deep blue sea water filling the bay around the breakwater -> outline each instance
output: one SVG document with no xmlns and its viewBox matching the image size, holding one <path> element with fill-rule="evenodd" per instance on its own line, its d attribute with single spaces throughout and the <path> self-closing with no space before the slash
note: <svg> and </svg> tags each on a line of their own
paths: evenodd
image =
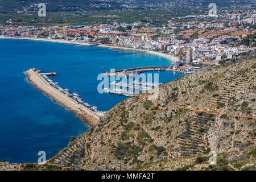
<svg viewBox="0 0 256 182">
<path fill-rule="evenodd" d="M 0 161 L 37 162 L 39 151 L 46 151 L 47 159 L 51 158 L 67 146 L 72 135 L 88 130 L 75 115 L 35 89 L 23 73 L 27 69 L 56 72 L 58 75 L 52 79 L 61 87 L 79 93 L 86 102 L 106 111 L 127 97 L 99 94 L 98 74 L 110 68 L 170 63 L 146 52 L 0 39 Z M 181 76 L 162 72 L 159 81 L 168 82 Z"/>
</svg>

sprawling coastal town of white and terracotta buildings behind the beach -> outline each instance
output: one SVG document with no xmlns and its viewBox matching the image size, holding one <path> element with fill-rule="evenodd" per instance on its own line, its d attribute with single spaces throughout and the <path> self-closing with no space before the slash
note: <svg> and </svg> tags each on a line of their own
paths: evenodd
<svg viewBox="0 0 256 182">
<path fill-rule="evenodd" d="M 177 19 L 187 18 L 179 22 Z M 155 21 L 90 23 L 77 26 L 0 25 L 2 38 L 65 40 L 110 48 L 147 50 L 170 55 L 175 64 L 216 65 L 235 62 L 255 50 L 255 11 L 176 17 L 155 26 Z M 184 67 L 189 71 L 189 67 Z"/>
</svg>

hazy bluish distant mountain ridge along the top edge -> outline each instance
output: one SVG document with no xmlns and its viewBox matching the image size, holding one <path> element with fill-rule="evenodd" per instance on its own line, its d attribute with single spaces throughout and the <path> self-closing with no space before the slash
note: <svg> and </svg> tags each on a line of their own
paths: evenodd
<svg viewBox="0 0 256 182">
<path fill-rule="evenodd" d="M 191 7 L 207 7 L 212 0 L 0 0 L 0 13 L 16 13 L 17 10 L 28 9 L 35 3 L 46 3 L 47 11 L 101 11 L 101 10 L 167 10 L 167 9 L 184 9 Z M 215 2 L 218 6 L 225 5 L 244 5 L 253 3 L 253 0 L 246 1 L 224 1 Z"/>
</svg>

